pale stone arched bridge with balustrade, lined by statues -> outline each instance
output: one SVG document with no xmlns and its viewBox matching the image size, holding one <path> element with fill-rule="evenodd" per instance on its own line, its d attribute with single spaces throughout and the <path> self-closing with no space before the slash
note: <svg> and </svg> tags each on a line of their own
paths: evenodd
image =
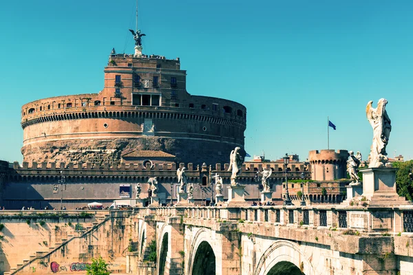
<svg viewBox="0 0 413 275">
<path fill-rule="evenodd" d="M 132 216 L 134 274 L 149 273 L 136 262 L 153 240 L 152 274 L 413 274 L 412 206 L 136 208 Z"/>
</svg>

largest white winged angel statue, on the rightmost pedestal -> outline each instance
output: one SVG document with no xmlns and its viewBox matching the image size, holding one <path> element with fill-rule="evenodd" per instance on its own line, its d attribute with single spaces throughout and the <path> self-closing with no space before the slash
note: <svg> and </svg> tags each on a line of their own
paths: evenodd
<svg viewBox="0 0 413 275">
<path fill-rule="evenodd" d="M 387 146 L 389 142 L 392 125 L 388 113 L 385 111 L 385 105 L 387 103 L 387 100 L 381 98 L 377 103 L 376 109 L 372 107 L 372 101 L 369 101 L 366 107 L 367 119 L 373 128 L 373 144 L 370 148 L 369 168 L 383 167 L 388 161 L 385 146 Z"/>
</svg>

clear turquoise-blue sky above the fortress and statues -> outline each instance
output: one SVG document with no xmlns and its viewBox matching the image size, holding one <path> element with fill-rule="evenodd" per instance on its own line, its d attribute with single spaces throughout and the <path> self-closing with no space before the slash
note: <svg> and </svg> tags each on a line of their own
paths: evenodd
<svg viewBox="0 0 413 275">
<path fill-rule="evenodd" d="M 112 47 L 134 52 L 135 0 L 4 1 L 0 158 L 21 161 L 21 105 L 98 92 Z M 180 57 L 187 91 L 247 108 L 245 148 L 367 158 L 366 104 L 388 100 L 388 154 L 413 157 L 413 1 L 140 0 L 145 54 Z"/>
</svg>

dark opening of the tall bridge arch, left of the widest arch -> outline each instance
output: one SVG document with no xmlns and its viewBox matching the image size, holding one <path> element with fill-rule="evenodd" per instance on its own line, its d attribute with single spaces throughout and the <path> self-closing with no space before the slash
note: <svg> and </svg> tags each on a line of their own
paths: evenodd
<svg viewBox="0 0 413 275">
<path fill-rule="evenodd" d="M 193 260 L 192 275 L 214 275 L 215 254 L 207 241 L 198 246 Z"/>
</svg>

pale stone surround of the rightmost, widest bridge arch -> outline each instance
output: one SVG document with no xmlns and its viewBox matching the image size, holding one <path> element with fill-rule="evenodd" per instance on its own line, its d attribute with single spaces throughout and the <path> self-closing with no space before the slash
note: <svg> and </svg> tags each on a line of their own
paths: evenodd
<svg viewBox="0 0 413 275">
<path fill-rule="evenodd" d="M 278 263 L 291 263 L 306 275 L 317 275 L 313 265 L 299 250 L 299 245 L 292 241 L 277 240 L 262 254 L 255 268 L 254 275 L 270 275 Z M 274 271 L 274 270 L 273 270 Z"/>
</svg>

